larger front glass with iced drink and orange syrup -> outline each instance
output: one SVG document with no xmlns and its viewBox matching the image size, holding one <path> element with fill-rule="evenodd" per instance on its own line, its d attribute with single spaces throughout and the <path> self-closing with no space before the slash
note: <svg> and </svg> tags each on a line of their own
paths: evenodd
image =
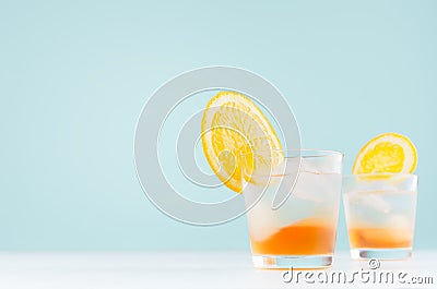
<svg viewBox="0 0 437 289">
<path fill-rule="evenodd" d="M 281 161 L 277 154 L 283 156 Z M 272 165 L 269 172 L 243 169 L 253 265 L 329 267 L 336 238 L 343 155 L 310 149 L 273 155 L 274 159 L 267 160 Z M 243 158 L 243 164 L 252 164 L 265 155 Z"/>
</svg>

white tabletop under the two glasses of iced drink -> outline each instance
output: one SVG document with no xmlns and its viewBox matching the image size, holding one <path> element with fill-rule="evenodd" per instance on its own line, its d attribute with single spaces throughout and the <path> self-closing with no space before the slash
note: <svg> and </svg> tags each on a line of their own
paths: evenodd
<svg viewBox="0 0 437 289">
<path fill-rule="evenodd" d="M 352 261 L 349 252 L 335 254 L 334 265 L 324 273 L 371 272 L 367 262 Z M 376 272 L 406 273 L 404 284 L 320 284 L 312 272 L 302 272 L 296 284 L 284 282 L 282 270 L 260 270 L 251 265 L 249 252 L 0 252 L 1 289 L 70 288 L 437 288 L 437 251 L 416 251 L 410 261 L 381 262 Z M 363 270 L 362 270 L 363 272 Z M 293 276 L 296 276 L 294 272 Z M 310 273 L 309 273 L 310 274 Z M 286 275 L 290 278 L 290 275 Z M 331 278 L 329 276 L 328 278 Z M 430 277 L 432 285 L 412 285 L 411 277 Z M 334 279 L 336 277 L 334 275 Z M 366 278 L 365 278 L 366 279 Z M 347 281 L 346 280 L 346 281 Z M 386 279 L 383 279 L 386 280 Z M 415 281 L 418 281 L 416 278 Z M 424 281 L 424 280 L 423 280 Z M 430 281 L 430 279 L 427 279 Z"/>
</svg>

